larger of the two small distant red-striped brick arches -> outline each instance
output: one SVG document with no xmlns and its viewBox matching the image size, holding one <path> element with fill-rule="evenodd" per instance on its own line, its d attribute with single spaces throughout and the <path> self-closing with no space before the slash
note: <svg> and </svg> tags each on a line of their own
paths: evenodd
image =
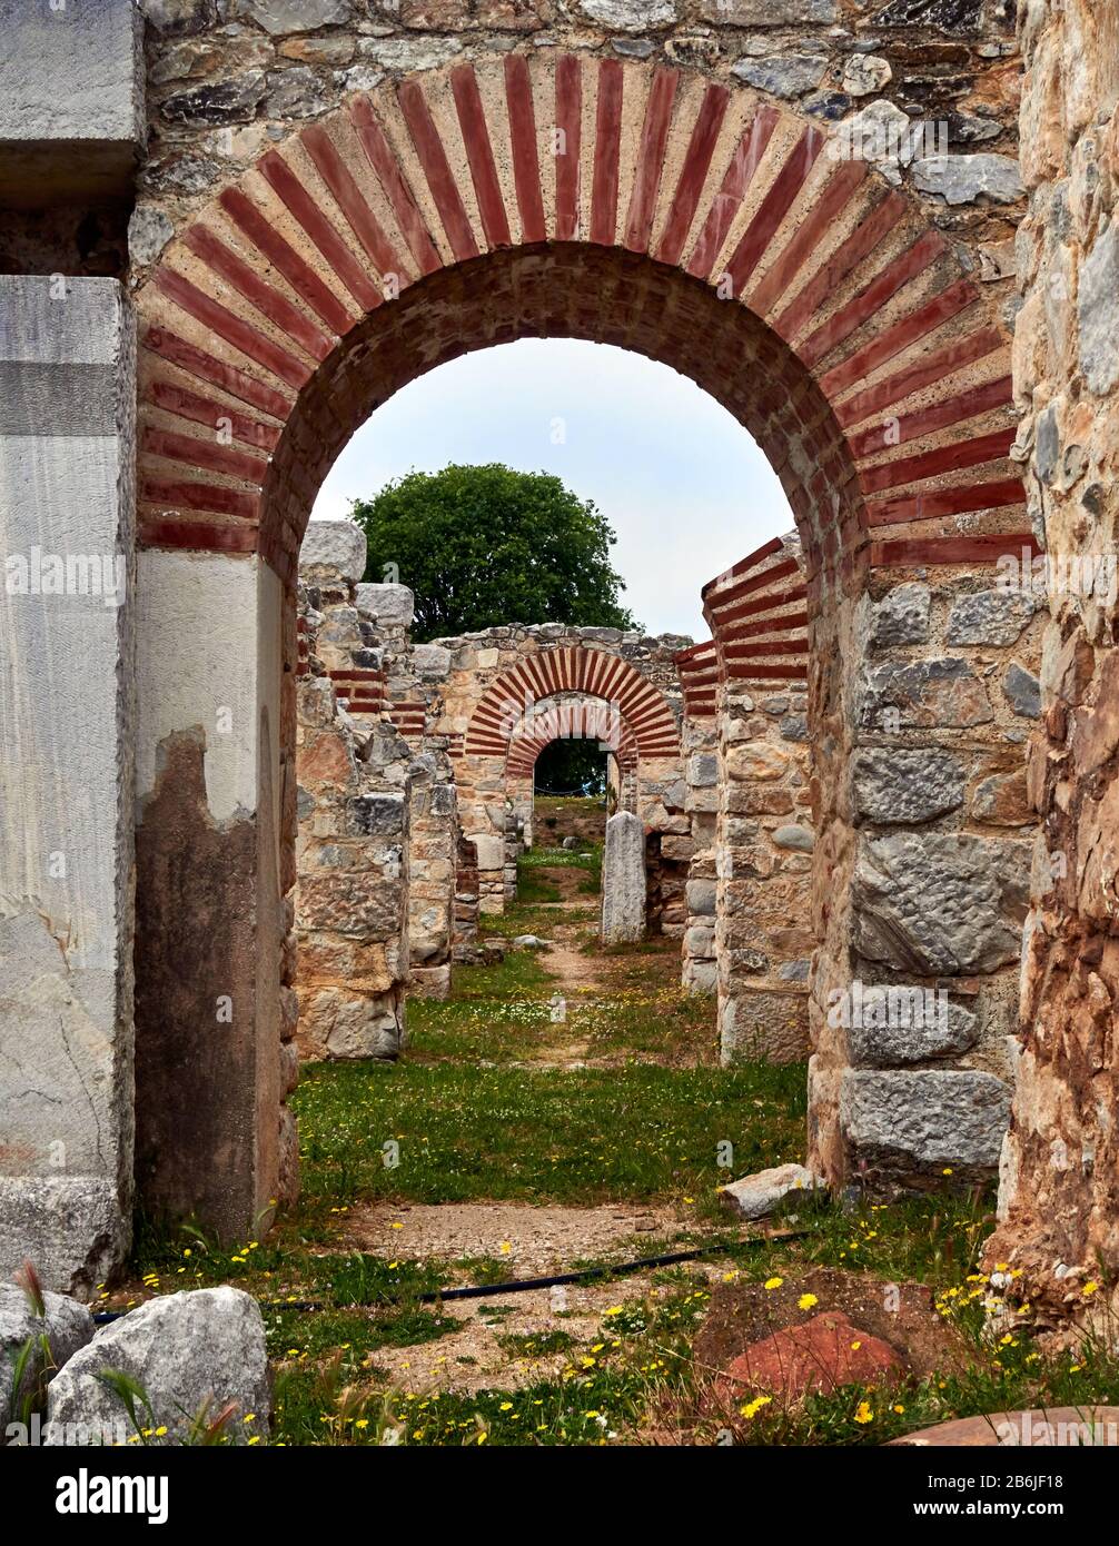
<svg viewBox="0 0 1119 1546">
<path fill-rule="evenodd" d="M 603 705 L 617 705 L 638 758 L 672 758 L 680 737 L 668 699 L 628 660 L 581 645 L 541 649 L 502 671 L 485 690 L 462 744 L 467 756 L 512 759 L 525 707 L 558 693 L 578 693 Z M 546 716 L 547 719 L 547 711 Z M 555 730 L 541 744 L 555 741 Z M 624 739 L 624 736 L 623 736 Z M 535 764 L 535 758 L 533 758 Z"/>
</svg>

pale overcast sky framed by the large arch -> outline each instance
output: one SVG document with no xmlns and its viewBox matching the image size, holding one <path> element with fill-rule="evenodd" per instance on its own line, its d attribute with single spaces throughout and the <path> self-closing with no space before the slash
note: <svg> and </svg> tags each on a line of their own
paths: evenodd
<svg viewBox="0 0 1119 1546">
<path fill-rule="evenodd" d="M 357 431 L 314 515 L 348 515 L 389 478 L 448 462 L 556 473 L 594 499 L 618 533 L 624 601 L 654 634 L 706 638 L 700 586 L 793 526 L 768 462 L 714 397 L 601 343 L 522 339 L 420 376 Z"/>
</svg>

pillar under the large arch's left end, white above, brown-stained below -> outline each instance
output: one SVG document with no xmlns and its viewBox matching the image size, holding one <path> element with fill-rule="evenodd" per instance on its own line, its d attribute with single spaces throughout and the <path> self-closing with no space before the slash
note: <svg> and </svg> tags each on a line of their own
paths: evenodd
<svg viewBox="0 0 1119 1546">
<path fill-rule="evenodd" d="M 136 1184 L 233 1241 L 294 1175 L 294 623 L 255 555 L 139 557 Z"/>
</svg>

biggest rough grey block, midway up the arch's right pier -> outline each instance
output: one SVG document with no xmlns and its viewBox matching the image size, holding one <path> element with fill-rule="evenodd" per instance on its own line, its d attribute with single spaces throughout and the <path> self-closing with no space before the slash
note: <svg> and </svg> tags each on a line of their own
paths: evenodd
<svg viewBox="0 0 1119 1546">
<path fill-rule="evenodd" d="M 1023 844 L 957 833 L 864 838 L 852 877 L 855 949 L 921 976 L 1017 960 L 1029 886 Z"/>
</svg>

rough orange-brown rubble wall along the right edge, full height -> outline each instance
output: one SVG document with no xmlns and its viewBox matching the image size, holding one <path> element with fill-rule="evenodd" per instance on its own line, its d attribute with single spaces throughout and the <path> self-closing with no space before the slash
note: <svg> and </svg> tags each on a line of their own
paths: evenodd
<svg viewBox="0 0 1119 1546">
<path fill-rule="evenodd" d="M 1029 802 L 1042 816 L 1002 1224 L 989 1260 L 1043 1317 L 1114 1316 L 1119 1237 L 1119 9 L 1022 5 L 1014 386 L 1051 621 Z M 1108 1289 L 1094 1300 L 1085 1279 Z M 1111 1320 L 1111 1326 L 1114 1322 Z"/>
</svg>

